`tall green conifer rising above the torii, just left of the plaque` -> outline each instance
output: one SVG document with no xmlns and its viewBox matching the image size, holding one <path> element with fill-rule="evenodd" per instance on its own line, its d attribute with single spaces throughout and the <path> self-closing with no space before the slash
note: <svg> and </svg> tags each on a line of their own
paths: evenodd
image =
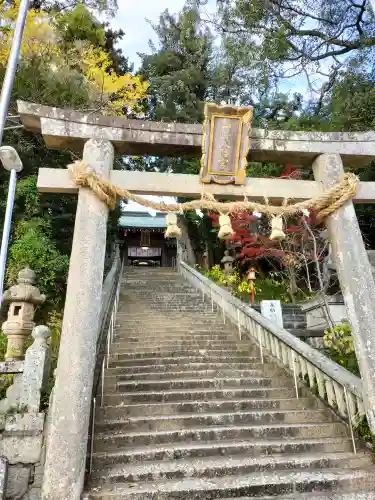
<svg viewBox="0 0 375 500">
<path fill-rule="evenodd" d="M 188 3 L 177 16 L 166 10 L 152 27 L 158 44 L 150 42 L 152 54 L 141 54 L 141 74 L 150 82 L 149 117 L 202 121 L 213 39 L 198 8 Z"/>
</svg>

